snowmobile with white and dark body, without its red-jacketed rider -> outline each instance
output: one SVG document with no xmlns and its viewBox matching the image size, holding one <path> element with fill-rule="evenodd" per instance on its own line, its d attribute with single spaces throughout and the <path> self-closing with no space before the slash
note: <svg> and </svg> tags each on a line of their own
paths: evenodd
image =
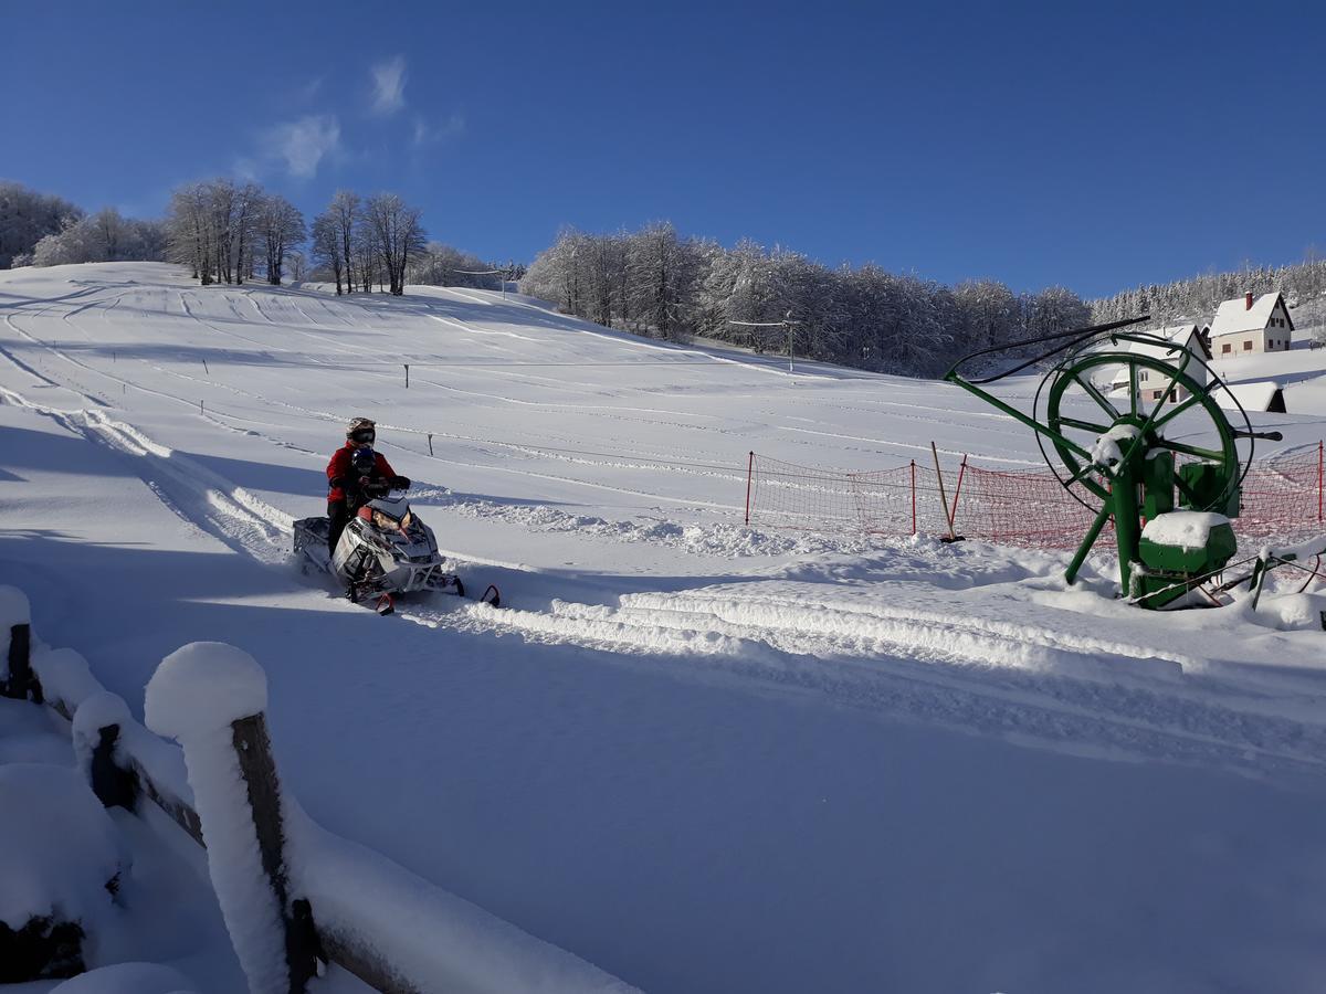
<svg viewBox="0 0 1326 994">
<path fill-rule="evenodd" d="M 390 615 L 399 594 L 435 591 L 465 595 L 460 577 L 447 570 L 438 539 L 404 496 L 389 484 L 370 484 L 369 501 L 350 518 L 335 551 L 328 555 L 329 518 L 294 522 L 294 554 L 304 573 L 329 573 L 345 584 L 353 603 L 377 598 L 378 614 Z M 497 607 L 501 594 L 489 584 L 480 598 Z"/>
</svg>

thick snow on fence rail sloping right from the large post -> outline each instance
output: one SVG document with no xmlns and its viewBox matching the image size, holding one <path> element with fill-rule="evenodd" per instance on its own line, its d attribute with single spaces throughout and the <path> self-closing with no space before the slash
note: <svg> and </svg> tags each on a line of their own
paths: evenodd
<svg viewBox="0 0 1326 994">
<path fill-rule="evenodd" d="M 434 887 L 385 856 L 324 831 L 286 802 L 290 872 L 324 941 L 351 945 L 423 991 L 627 994 L 564 949 Z"/>
</svg>

